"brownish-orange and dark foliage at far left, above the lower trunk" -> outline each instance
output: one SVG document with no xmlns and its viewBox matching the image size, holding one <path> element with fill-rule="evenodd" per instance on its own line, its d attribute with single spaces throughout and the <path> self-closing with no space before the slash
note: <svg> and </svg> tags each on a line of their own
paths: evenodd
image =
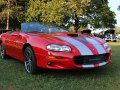
<svg viewBox="0 0 120 90">
<path fill-rule="evenodd" d="M 25 5 L 28 0 L 0 0 L 0 21 L 10 26 L 25 21 Z M 8 26 L 9 27 L 9 24 Z"/>
</svg>

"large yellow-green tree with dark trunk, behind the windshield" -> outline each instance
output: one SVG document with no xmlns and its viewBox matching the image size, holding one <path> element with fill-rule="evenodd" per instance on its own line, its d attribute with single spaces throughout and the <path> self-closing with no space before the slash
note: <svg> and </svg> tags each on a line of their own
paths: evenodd
<svg viewBox="0 0 120 90">
<path fill-rule="evenodd" d="M 91 0 L 30 0 L 27 10 L 27 21 L 65 25 L 74 20 L 75 32 L 79 28 L 79 17 Z"/>
</svg>

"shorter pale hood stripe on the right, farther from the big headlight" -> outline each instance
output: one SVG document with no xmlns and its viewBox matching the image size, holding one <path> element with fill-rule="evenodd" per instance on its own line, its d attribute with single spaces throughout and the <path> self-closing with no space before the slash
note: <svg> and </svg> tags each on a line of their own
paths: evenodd
<svg viewBox="0 0 120 90">
<path fill-rule="evenodd" d="M 91 44 L 93 44 L 93 46 L 97 49 L 97 51 L 98 51 L 99 54 L 106 53 L 106 51 L 104 50 L 104 48 L 96 40 L 88 38 L 88 37 L 86 37 L 86 40 L 88 42 L 90 42 Z"/>
</svg>

